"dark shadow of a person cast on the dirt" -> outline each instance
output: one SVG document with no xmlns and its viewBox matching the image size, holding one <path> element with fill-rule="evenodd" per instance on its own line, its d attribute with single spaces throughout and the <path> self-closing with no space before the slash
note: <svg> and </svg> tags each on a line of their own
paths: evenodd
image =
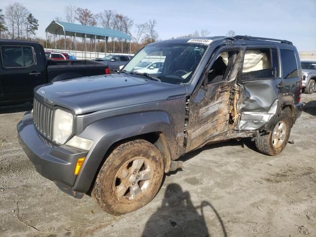
<svg viewBox="0 0 316 237">
<path fill-rule="evenodd" d="M 205 208 L 211 216 L 215 216 L 214 223 L 208 226 L 220 228 L 216 233 L 227 237 L 224 223 L 217 210 L 207 201 L 194 206 L 188 191 L 183 192 L 178 184 L 169 184 L 166 188 L 161 206 L 151 215 L 146 223 L 142 237 L 208 237 L 212 236 L 205 221 Z M 218 222 L 220 225 L 217 225 Z"/>
</svg>

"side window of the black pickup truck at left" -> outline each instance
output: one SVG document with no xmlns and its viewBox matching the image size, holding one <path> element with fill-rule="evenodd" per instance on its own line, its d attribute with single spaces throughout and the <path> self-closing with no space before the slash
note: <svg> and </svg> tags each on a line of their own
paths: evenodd
<svg viewBox="0 0 316 237">
<path fill-rule="evenodd" d="M 1 46 L 3 68 L 28 68 L 35 64 L 33 47 Z"/>
</svg>

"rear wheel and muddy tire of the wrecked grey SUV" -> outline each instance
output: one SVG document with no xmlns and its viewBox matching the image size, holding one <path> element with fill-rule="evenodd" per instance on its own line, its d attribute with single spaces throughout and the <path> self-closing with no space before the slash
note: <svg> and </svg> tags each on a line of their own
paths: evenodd
<svg viewBox="0 0 316 237">
<path fill-rule="evenodd" d="M 259 152 L 275 156 L 285 148 L 291 132 L 291 109 L 285 108 L 277 119 L 274 130 L 261 134 L 255 139 Z"/>
</svg>

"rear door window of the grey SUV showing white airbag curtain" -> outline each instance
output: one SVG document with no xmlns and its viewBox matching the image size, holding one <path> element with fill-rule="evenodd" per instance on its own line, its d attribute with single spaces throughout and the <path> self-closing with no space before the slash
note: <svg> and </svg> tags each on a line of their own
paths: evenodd
<svg viewBox="0 0 316 237">
<path fill-rule="evenodd" d="M 276 49 L 247 49 L 242 66 L 242 81 L 271 79 L 278 76 Z"/>
</svg>

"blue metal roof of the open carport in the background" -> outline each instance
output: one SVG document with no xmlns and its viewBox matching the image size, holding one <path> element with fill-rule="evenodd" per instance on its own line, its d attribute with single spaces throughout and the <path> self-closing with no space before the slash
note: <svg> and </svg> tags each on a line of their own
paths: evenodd
<svg viewBox="0 0 316 237">
<path fill-rule="evenodd" d="M 72 24 L 62 21 L 52 21 L 45 29 L 45 32 L 55 35 L 64 35 L 65 32 L 66 36 L 75 36 L 76 33 L 77 37 L 84 37 L 86 35 L 87 38 L 94 39 L 96 37 L 97 39 L 101 40 L 104 40 L 105 37 L 124 40 L 132 39 L 130 35 L 127 35 L 121 31 L 101 27 Z"/>
</svg>

